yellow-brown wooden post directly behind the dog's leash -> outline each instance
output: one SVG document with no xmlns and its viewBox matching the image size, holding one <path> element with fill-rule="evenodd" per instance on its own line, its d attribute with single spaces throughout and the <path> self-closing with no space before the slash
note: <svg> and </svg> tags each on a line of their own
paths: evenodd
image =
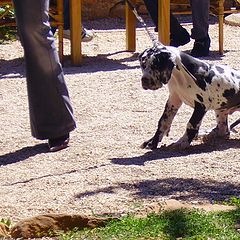
<svg viewBox="0 0 240 240">
<path fill-rule="evenodd" d="M 133 4 L 136 0 L 131 1 Z M 126 2 L 125 8 L 126 19 L 126 45 L 128 51 L 136 50 L 136 17 Z"/>
</svg>

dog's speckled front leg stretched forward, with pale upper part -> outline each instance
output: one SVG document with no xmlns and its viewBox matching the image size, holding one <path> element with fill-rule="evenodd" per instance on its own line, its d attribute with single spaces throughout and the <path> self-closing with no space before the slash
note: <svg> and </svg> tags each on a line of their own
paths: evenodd
<svg viewBox="0 0 240 240">
<path fill-rule="evenodd" d="M 170 96 L 161 118 L 158 121 L 158 128 L 154 136 L 141 145 L 141 148 L 156 149 L 164 135 L 168 135 L 172 121 L 180 108 L 182 101 L 176 96 Z"/>
</svg>

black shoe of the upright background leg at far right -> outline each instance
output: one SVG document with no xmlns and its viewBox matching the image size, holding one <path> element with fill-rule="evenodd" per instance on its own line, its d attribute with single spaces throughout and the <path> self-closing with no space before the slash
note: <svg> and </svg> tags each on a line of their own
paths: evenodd
<svg viewBox="0 0 240 240">
<path fill-rule="evenodd" d="M 193 49 L 191 51 L 191 55 L 193 57 L 206 57 L 209 55 L 210 48 L 210 37 L 207 36 L 205 38 L 196 39 L 193 45 Z"/>
</svg>

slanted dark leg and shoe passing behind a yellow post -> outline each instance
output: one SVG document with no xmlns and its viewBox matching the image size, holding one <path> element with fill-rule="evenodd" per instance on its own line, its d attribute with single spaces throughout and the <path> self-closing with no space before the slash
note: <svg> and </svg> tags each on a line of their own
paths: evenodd
<svg viewBox="0 0 240 240">
<path fill-rule="evenodd" d="M 158 0 L 144 0 L 146 8 L 151 16 L 155 30 L 158 29 Z M 170 45 L 178 47 L 190 41 L 190 36 L 185 28 L 178 22 L 177 18 L 170 14 Z"/>
</svg>

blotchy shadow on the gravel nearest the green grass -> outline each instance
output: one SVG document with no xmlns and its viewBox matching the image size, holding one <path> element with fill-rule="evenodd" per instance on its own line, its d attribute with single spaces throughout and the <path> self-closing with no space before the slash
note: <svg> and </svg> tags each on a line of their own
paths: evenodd
<svg viewBox="0 0 240 240">
<path fill-rule="evenodd" d="M 99 193 L 113 194 L 119 189 L 132 192 L 134 197 L 138 199 L 173 198 L 181 201 L 218 202 L 240 194 L 240 186 L 229 182 L 201 181 L 193 178 L 165 178 L 144 180 L 137 183 L 119 183 L 115 186 L 79 193 L 75 197 L 86 198 Z"/>
</svg>

